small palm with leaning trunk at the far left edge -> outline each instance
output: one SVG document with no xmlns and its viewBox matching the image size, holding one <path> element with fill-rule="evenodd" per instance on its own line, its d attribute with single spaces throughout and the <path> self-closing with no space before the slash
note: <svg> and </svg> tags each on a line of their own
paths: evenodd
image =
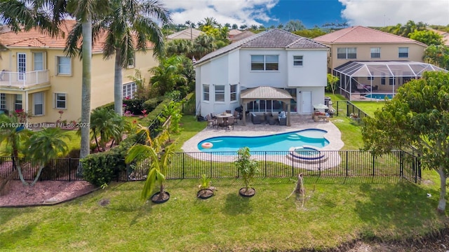
<svg viewBox="0 0 449 252">
<path fill-rule="evenodd" d="M 11 116 L 5 114 L 0 115 L 0 143 L 6 145 L 6 149 L 10 152 L 13 159 L 13 169 L 16 169 L 19 174 L 19 179 L 24 185 L 28 183 L 23 179 L 22 167 L 20 166 L 20 154 L 21 146 L 24 141 L 26 141 L 31 133 L 29 130 L 22 130 L 20 126 L 20 120 L 18 114 L 13 112 Z"/>
</svg>

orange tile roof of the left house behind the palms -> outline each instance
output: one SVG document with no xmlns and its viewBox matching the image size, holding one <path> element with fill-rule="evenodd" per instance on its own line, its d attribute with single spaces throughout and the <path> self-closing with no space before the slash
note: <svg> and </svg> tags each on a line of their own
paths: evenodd
<svg viewBox="0 0 449 252">
<path fill-rule="evenodd" d="M 0 33 L 0 43 L 6 47 L 24 47 L 24 48 L 58 48 L 63 50 L 69 31 L 74 27 L 76 20 L 65 20 L 60 25 L 60 34 L 52 37 L 48 32 L 41 29 L 30 29 L 29 31 L 19 31 L 17 34 L 13 31 Z M 106 33 L 103 33 L 98 40 L 93 41 L 92 52 L 102 52 L 102 47 L 106 39 Z M 151 46 L 151 44 L 148 44 Z"/>
</svg>

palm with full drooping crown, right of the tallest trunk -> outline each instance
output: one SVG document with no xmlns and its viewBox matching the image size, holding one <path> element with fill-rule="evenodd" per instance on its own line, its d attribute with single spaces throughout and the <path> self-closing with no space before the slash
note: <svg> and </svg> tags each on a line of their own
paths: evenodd
<svg viewBox="0 0 449 252">
<path fill-rule="evenodd" d="M 106 34 L 103 46 L 105 59 L 114 55 L 114 111 L 123 115 L 122 69 L 133 62 L 135 50 L 146 51 L 148 42 L 154 44 L 153 56 L 162 56 L 164 41 L 162 25 L 171 22 L 168 10 L 157 0 L 113 0 L 112 11 L 105 18 L 95 22 L 94 38 Z M 71 46 L 76 46 L 81 34 L 74 29 L 69 35 Z M 78 32 L 76 32 L 78 31 Z"/>
</svg>

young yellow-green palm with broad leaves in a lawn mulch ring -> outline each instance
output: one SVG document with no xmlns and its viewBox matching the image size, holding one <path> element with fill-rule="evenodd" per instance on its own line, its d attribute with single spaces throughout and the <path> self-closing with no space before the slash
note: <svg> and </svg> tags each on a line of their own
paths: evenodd
<svg viewBox="0 0 449 252">
<path fill-rule="evenodd" d="M 173 149 L 171 146 L 166 146 L 164 150 L 162 149 L 168 139 L 168 132 L 166 130 L 161 132 L 156 139 L 151 139 L 148 128 L 140 125 L 138 134 L 142 131 L 147 136 L 147 144 L 133 145 L 128 150 L 125 162 L 128 164 L 130 162 L 145 162 L 147 160 L 150 162 L 147 180 L 145 181 L 140 198 L 147 200 L 156 183 L 159 183 L 159 199 L 161 200 L 165 193 L 163 183 L 166 181 L 166 172 L 170 165 Z"/>
</svg>

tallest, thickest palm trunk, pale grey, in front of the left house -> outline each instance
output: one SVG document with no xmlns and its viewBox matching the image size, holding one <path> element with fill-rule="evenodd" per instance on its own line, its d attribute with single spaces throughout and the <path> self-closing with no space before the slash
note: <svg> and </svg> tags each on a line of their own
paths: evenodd
<svg viewBox="0 0 449 252">
<path fill-rule="evenodd" d="M 89 132 L 91 130 L 91 64 L 92 64 L 92 18 L 89 14 L 82 24 L 83 29 L 83 80 L 81 87 L 81 150 L 80 160 L 86 158 L 91 151 Z M 83 174 L 79 162 L 76 174 Z"/>
</svg>

